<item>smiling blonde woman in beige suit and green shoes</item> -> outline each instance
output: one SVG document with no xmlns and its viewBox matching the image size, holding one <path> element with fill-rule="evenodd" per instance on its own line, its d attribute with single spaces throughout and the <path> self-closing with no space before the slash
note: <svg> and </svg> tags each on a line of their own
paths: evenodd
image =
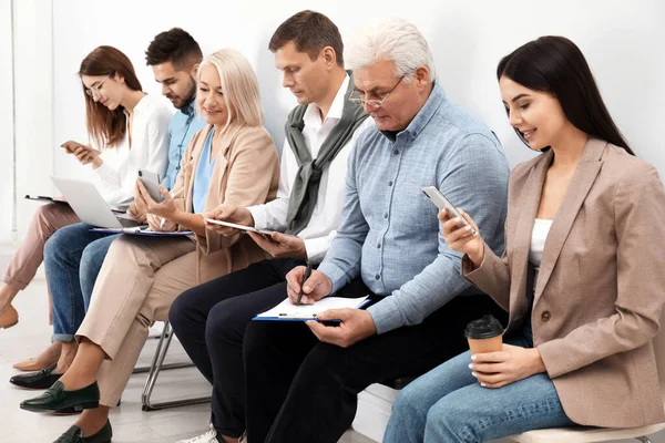
<svg viewBox="0 0 665 443">
<path fill-rule="evenodd" d="M 150 326 L 167 319 L 184 290 L 266 258 L 248 236 L 222 237 L 204 223 L 204 214 L 223 203 L 250 206 L 277 194 L 277 152 L 262 126 L 258 82 L 247 60 L 228 49 L 206 58 L 196 101 L 208 125 L 192 138 L 172 195 L 162 188 L 164 200 L 156 203 L 141 183 L 136 189 L 153 230 L 194 235 L 117 238 L 76 332 L 72 365 L 44 394 L 21 403 L 35 412 L 86 410 L 58 442 L 111 441 L 109 409 L 117 404 Z"/>
</svg>

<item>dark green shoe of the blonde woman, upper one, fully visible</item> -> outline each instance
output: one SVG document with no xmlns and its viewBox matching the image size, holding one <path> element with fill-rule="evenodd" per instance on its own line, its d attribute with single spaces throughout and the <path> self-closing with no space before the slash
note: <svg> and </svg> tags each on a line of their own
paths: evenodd
<svg viewBox="0 0 665 443">
<path fill-rule="evenodd" d="M 82 411 L 84 409 L 99 408 L 99 405 L 100 388 L 96 381 L 78 391 L 65 391 L 64 384 L 61 381 L 57 381 L 40 396 L 21 402 L 21 409 L 32 412 L 52 412 L 65 408 Z"/>
</svg>

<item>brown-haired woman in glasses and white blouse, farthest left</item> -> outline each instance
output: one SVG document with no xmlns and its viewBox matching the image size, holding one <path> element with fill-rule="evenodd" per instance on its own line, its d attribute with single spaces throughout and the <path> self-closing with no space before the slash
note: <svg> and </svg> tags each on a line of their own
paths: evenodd
<svg viewBox="0 0 665 443">
<path fill-rule="evenodd" d="M 93 50 L 81 62 L 79 76 L 85 99 L 90 143 L 68 141 L 62 146 L 82 165 L 92 167 L 95 185 L 109 206 L 124 210 L 134 198 L 137 169 L 149 169 L 160 176 L 166 171 L 172 111 L 158 96 L 142 92 L 132 62 L 115 48 Z M 43 260 L 47 240 L 58 229 L 78 222 L 79 217 L 70 206 L 61 203 L 44 205 L 35 212 L 25 243 L 8 267 L 0 288 L 0 328 L 18 321 L 11 300 L 34 277 Z M 100 235 L 100 238 L 103 236 Z M 68 246 L 72 249 L 85 247 L 79 244 Z M 68 284 L 50 281 L 53 289 Z M 68 299 L 66 303 L 60 309 L 54 307 L 53 344 L 37 359 L 18 363 L 17 369 L 45 368 L 58 361 L 63 342 L 73 342 L 74 332 L 84 316 L 83 299 Z M 58 312 L 66 312 L 66 316 Z"/>
</svg>

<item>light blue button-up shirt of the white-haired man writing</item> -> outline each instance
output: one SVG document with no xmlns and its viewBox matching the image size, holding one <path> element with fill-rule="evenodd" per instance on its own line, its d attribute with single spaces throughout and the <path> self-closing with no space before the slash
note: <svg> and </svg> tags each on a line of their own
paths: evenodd
<svg viewBox="0 0 665 443">
<path fill-rule="evenodd" d="M 358 275 L 375 293 L 377 331 L 418 324 L 458 295 L 479 293 L 461 277 L 461 255 L 446 245 L 436 186 L 467 210 L 497 254 L 503 251 L 509 166 L 501 143 L 446 97 L 437 83 L 395 141 L 367 130 L 349 156 L 341 223 L 319 270 L 334 291 Z"/>
</svg>

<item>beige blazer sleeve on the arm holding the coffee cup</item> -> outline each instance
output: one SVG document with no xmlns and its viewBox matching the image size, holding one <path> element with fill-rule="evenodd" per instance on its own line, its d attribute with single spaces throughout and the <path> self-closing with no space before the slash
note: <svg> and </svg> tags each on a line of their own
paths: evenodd
<svg viewBox="0 0 665 443">
<path fill-rule="evenodd" d="M 615 313 L 539 344 L 551 378 L 636 349 L 658 332 L 665 302 L 665 192 L 653 166 L 637 167 L 616 184 L 613 222 L 618 244 Z"/>
</svg>

